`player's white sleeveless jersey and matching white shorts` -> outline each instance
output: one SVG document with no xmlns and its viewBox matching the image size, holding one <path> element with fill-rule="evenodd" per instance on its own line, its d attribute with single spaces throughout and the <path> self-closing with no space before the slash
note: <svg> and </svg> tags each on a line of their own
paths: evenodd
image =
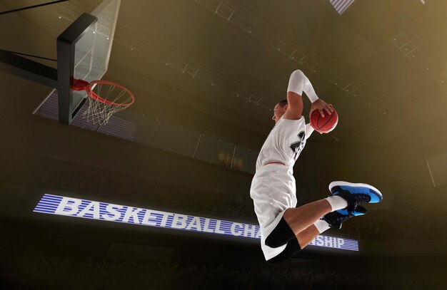
<svg viewBox="0 0 447 290">
<path fill-rule="evenodd" d="M 313 132 L 304 117 L 298 120 L 280 118 L 271 130 L 256 160 L 256 173 L 251 182 L 250 197 L 261 227 L 261 249 L 266 260 L 283 252 L 266 246 L 265 240 L 289 207 L 296 207 L 296 185 L 293 165 Z M 276 162 L 273 164 L 268 164 Z"/>
</svg>

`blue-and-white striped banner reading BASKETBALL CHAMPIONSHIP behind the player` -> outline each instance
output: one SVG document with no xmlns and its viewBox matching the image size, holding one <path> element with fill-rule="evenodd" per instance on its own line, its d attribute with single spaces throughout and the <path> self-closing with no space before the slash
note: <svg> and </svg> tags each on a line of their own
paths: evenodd
<svg viewBox="0 0 447 290">
<path fill-rule="evenodd" d="M 34 212 L 45 214 L 58 214 L 69 217 L 83 217 L 84 219 L 98 219 L 109 222 L 126 224 L 140 224 L 166 229 L 182 229 L 191 232 L 208 232 L 212 234 L 225 234 L 233 237 L 247 237 L 261 239 L 259 226 L 229 222 L 221 219 L 195 217 L 187 214 L 161 212 L 154 209 L 128 207 L 126 205 L 110 204 L 80 200 L 74 197 L 61 197 L 59 195 L 44 195 L 36 205 Z M 358 251 L 358 241 L 318 235 L 311 246 L 326 247 Z"/>
</svg>

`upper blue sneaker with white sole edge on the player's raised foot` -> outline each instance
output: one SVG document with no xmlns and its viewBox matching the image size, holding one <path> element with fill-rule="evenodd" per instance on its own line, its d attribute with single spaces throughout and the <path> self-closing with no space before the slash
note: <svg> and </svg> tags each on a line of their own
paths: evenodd
<svg viewBox="0 0 447 290">
<path fill-rule="evenodd" d="M 338 195 L 348 202 L 346 210 L 348 213 L 354 212 L 357 204 L 377 203 L 383 200 L 381 192 L 372 185 L 365 183 L 351 183 L 344 181 L 333 181 L 329 185 L 331 195 Z"/>
</svg>

